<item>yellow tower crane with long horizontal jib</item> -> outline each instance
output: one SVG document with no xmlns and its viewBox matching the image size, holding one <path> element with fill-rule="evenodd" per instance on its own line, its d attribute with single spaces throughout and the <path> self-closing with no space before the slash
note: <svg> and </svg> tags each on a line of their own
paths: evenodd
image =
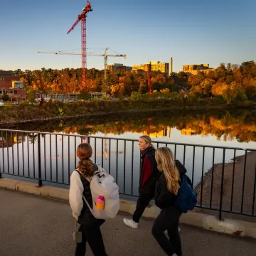
<svg viewBox="0 0 256 256">
<path fill-rule="evenodd" d="M 115 55 L 107 54 L 107 50 L 109 50 L 109 48 L 105 48 L 104 54 L 87 53 L 87 55 L 90 55 L 90 56 L 104 57 L 104 88 L 105 88 L 106 96 L 107 96 L 107 57 L 122 57 L 124 59 L 126 59 L 126 57 L 127 57 L 126 54 L 115 54 Z M 38 53 L 51 53 L 51 54 L 62 54 L 62 55 L 82 55 L 82 53 L 67 53 L 67 52 L 60 52 L 60 51 L 59 52 L 38 51 Z"/>
</svg>

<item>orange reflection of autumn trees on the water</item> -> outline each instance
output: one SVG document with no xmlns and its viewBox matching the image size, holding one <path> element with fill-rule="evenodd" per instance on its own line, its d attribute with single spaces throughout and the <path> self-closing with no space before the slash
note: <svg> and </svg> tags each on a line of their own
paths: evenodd
<svg viewBox="0 0 256 256">
<path fill-rule="evenodd" d="M 151 117 L 151 118 L 149 118 Z M 97 132 L 103 134 L 124 134 L 124 132 L 158 133 L 167 127 L 178 130 L 190 129 L 191 134 L 214 135 L 217 139 L 223 137 L 225 141 L 237 139 L 238 142 L 256 141 L 256 110 L 212 110 L 199 111 L 170 111 L 158 113 L 144 113 L 140 115 L 121 115 L 115 117 L 90 117 L 83 119 L 65 119 L 61 122 L 47 124 L 29 124 L 32 130 L 42 132 L 63 132 L 65 134 L 92 135 Z M 19 129 L 16 127 L 15 129 Z M 25 135 L 25 134 L 24 134 Z M 31 143 L 36 142 L 37 134 L 29 134 Z M 19 140 L 18 140 L 19 141 Z"/>
</svg>

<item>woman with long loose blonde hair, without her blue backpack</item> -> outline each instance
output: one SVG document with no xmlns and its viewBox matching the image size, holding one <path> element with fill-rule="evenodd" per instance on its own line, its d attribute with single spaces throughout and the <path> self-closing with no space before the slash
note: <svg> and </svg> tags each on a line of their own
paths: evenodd
<svg viewBox="0 0 256 256">
<path fill-rule="evenodd" d="M 174 160 L 174 154 L 168 147 L 156 150 L 156 162 L 162 173 L 156 183 L 154 198 L 161 212 L 152 227 L 152 235 L 166 255 L 181 256 L 181 238 L 178 232 L 181 210 L 175 206 L 175 203 L 186 168 L 180 161 Z M 165 230 L 168 232 L 169 239 L 164 235 Z"/>
</svg>

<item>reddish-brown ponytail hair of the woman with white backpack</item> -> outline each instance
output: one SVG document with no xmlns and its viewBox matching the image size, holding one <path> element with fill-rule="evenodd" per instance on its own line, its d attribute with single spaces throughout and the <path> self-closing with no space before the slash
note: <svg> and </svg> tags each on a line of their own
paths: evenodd
<svg viewBox="0 0 256 256">
<path fill-rule="evenodd" d="M 86 178 L 90 178 L 94 175 L 93 164 L 90 161 L 92 157 L 92 146 L 87 143 L 81 143 L 77 148 L 77 156 L 80 159 L 78 162 L 78 170 Z"/>
</svg>

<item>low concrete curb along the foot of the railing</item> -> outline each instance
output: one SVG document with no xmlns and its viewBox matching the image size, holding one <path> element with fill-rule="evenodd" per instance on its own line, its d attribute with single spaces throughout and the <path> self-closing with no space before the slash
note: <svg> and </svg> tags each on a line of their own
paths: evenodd
<svg viewBox="0 0 256 256">
<path fill-rule="evenodd" d="M 10 178 L 0 179 L 0 188 L 9 188 L 16 191 L 31 193 L 37 196 L 46 196 L 49 198 L 58 198 L 65 201 L 69 199 L 69 191 L 65 188 L 55 188 L 53 186 L 38 187 L 35 183 L 17 181 Z M 120 211 L 125 213 L 134 213 L 136 202 L 120 199 Z M 156 218 L 159 215 L 159 208 L 156 206 L 147 207 L 143 216 L 146 218 Z M 218 233 L 225 233 L 241 237 L 256 238 L 256 223 L 249 223 L 242 220 L 225 219 L 218 220 L 213 215 L 203 213 L 188 212 L 181 215 L 181 223 L 193 225 L 198 228 L 212 230 Z"/>
</svg>

